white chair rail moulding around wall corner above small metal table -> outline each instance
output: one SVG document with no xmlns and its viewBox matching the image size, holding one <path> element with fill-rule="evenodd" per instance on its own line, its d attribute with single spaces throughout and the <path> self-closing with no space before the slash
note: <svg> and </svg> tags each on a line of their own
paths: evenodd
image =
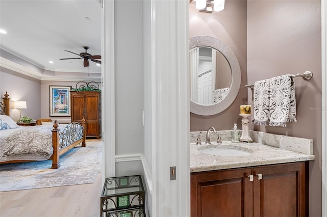
<svg viewBox="0 0 327 217">
<path fill-rule="evenodd" d="M 137 153 L 137 154 L 115 155 L 115 162 L 129 162 L 129 161 L 138 161 L 138 160 L 141 160 L 141 162 L 142 162 L 144 177 L 146 179 L 145 181 L 148 186 L 147 190 L 152 195 L 152 176 L 151 176 L 151 171 L 149 170 L 149 167 L 148 167 L 148 164 L 147 164 L 144 154 Z"/>
</svg>

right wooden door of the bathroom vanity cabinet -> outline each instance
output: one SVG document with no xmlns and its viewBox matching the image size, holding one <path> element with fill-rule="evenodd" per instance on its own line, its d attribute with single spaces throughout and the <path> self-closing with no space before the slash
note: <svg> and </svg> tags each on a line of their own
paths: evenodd
<svg viewBox="0 0 327 217">
<path fill-rule="evenodd" d="M 308 216 L 305 162 L 254 167 L 253 174 L 254 216 Z"/>
</svg>

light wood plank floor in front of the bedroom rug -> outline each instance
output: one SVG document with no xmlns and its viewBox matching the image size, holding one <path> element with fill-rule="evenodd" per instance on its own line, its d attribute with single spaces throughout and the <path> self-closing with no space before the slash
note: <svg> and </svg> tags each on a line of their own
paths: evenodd
<svg viewBox="0 0 327 217">
<path fill-rule="evenodd" d="M 95 183 L 0 192 L 1 217 L 100 216 L 101 173 Z"/>
</svg>

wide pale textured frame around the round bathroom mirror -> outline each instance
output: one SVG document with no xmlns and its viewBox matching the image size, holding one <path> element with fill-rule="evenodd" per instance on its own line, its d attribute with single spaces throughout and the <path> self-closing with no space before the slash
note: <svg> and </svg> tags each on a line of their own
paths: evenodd
<svg viewBox="0 0 327 217">
<path fill-rule="evenodd" d="M 216 115 L 224 111 L 235 100 L 241 86 L 241 69 L 233 51 L 219 39 L 210 36 L 195 36 L 190 38 L 190 50 L 195 47 L 206 46 L 220 51 L 227 59 L 231 69 L 231 85 L 227 96 L 212 105 L 201 105 L 190 99 L 190 112 L 196 115 Z"/>
</svg>

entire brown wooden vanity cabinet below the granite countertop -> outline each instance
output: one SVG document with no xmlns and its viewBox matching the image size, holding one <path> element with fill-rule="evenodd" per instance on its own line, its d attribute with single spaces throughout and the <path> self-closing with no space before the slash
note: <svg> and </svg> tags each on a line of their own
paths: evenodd
<svg viewBox="0 0 327 217">
<path fill-rule="evenodd" d="M 308 216 L 307 162 L 191 173 L 191 216 Z"/>
</svg>

